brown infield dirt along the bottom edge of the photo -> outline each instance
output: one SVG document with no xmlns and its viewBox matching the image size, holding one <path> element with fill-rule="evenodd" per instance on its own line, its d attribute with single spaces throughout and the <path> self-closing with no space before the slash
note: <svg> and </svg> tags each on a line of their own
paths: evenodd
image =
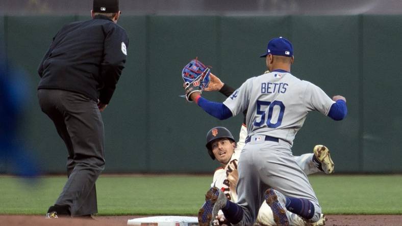
<svg viewBox="0 0 402 226">
<path fill-rule="evenodd" d="M 0 225 L 43 225 L 43 226 L 112 226 L 127 225 L 127 220 L 144 216 L 97 216 L 93 220 L 77 218 L 44 219 L 43 216 L 1 215 Z M 325 225 L 402 225 L 402 215 L 329 215 Z"/>
</svg>

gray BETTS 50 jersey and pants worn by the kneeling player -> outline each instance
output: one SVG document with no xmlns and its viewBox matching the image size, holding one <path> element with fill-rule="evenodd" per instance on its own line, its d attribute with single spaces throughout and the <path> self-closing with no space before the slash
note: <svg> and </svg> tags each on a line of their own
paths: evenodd
<svg viewBox="0 0 402 226">
<path fill-rule="evenodd" d="M 233 116 L 248 109 L 246 125 L 250 141 L 241 151 L 238 163 L 238 204 L 244 210 L 238 225 L 254 223 L 268 188 L 309 200 L 315 209 L 311 220 L 319 219 L 321 207 L 291 147 L 308 112 L 317 110 L 328 115 L 333 103 L 311 82 L 283 70 L 247 79 L 223 102 Z M 272 141 L 269 136 L 279 139 Z"/>
</svg>

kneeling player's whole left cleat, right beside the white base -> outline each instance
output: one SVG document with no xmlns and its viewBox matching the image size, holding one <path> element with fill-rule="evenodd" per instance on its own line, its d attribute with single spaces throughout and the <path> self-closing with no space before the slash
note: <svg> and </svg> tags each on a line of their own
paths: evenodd
<svg viewBox="0 0 402 226">
<path fill-rule="evenodd" d="M 215 216 L 226 205 L 226 196 L 217 187 L 211 187 L 205 194 L 205 203 L 198 211 L 198 225 L 213 225 Z"/>
</svg>

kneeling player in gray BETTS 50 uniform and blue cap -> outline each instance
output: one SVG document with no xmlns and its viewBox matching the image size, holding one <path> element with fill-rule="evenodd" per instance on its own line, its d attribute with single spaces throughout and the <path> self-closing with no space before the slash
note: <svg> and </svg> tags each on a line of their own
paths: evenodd
<svg viewBox="0 0 402 226">
<path fill-rule="evenodd" d="M 201 225 L 207 221 L 212 225 L 219 210 L 232 224 L 252 225 L 264 200 L 278 225 L 289 225 L 286 210 L 310 222 L 320 218 L 321 206 L 291 147 L 309 111 L 342 120 L 346 99 L 331 99 L 313 83 L 290 73 L 294 57 L 287 39 L 270 40 L 262 57 L 270 72 L 247 79 L 223 103 L 209 101 L 200 92 L 190 94 L 191 100 L 221 120 L 248 109 L 246 145 L 238 165 L 238 203 L 230 202 L 219 188 L 210 188 L 200 209 Z"/>
</svg>

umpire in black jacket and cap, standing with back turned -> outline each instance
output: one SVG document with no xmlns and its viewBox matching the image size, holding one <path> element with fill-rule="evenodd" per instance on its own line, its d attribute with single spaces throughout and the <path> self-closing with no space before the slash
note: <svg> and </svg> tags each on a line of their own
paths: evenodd
<svg viewBox="0 0 402 226">
<path fill-rule="evenodd" d="M 105 167 L 104 123 L 129 39 L 117 25 L 118 0 L 93 0 L 92 18 L 64 25 L 38 73 L 38 98 L 67 151 L 68 180 L 46 218 L 97 213 L 95 182 Z"/>
</svg>

